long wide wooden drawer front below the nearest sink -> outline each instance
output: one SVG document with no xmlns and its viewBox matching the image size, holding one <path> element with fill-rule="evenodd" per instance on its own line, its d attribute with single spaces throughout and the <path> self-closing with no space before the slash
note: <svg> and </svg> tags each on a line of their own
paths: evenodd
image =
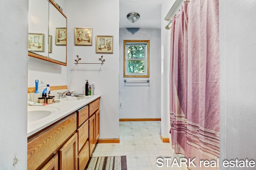
<svg viewBox="0 0 256 170">
<path fill-rule="evenodd" d="M 76 113 L 28 139 L 28 170 L 35 170 L 76 131 Z"/>
</svg>

